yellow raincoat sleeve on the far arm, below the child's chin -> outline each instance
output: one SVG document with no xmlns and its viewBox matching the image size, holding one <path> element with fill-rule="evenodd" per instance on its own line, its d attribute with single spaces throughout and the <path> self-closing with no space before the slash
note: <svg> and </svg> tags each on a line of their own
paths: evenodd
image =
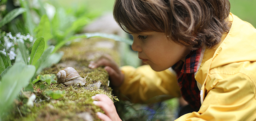
<svg viewBox="0 0 256 121">
<path fill-rule="evenodd" d="M 177 77 L 170 69 L 156 72 L 149 65 L 121 67 L 124 82 L 119 92 L 134 103 L 150 103 L 180 96 Z"/>
</svg>

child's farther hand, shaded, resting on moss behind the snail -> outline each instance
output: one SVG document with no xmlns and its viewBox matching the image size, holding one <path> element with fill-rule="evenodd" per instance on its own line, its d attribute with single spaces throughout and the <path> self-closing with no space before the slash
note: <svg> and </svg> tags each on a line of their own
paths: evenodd
<svg viewBox="0 0 256 121">
<path fill-rule="evenodd" d="M 111 56 L 104 55 L 88 65 L 91 69 L 95 69 L 100 66 L 104 66 L 104 69 L 108 71 L 108 75 L 113 86 L 118 87 L 121 85 L 124 79 L 124 74 L 121 73 L 117 63 L 115 63 Z"/>
</svg>

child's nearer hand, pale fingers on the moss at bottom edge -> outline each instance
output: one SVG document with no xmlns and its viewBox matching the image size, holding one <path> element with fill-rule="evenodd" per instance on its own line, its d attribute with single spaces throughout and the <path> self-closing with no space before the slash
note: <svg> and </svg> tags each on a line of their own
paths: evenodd
<svg viewBox="0 0 256 121">
<path fill-rule="evenodd" d="M 113 101 L 108 98 L 105 94 L 96 94 L 95 96 L 91 97 L 93 100 L 99 100 L 99 101 L 93 101 L 93 104 L 100 106 L 103 111 L 105 111 L 106 115 L 103 113 L 98 112 L 98 117 L 103 121 L 122 121 L 115 109 L 115 105 Z"/>
</svg>

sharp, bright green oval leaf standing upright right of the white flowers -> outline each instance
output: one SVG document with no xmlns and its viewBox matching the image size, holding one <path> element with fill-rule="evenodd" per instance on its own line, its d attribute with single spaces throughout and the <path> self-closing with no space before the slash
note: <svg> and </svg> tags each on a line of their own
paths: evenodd
<svg viewBox="0 0 256 121">
<path fill-rule="evenodd" d="M 44 51 L 44 47 L 45 47 L 44 38 L 43 37 L 38 38 L 35 41 L 35 43 L 33 44 L 33 48 L 32 48 L 31 54 L 30 54 L 29 63 L 31 65 L 35 65 L 37 60 L 41 57 L 41 55 L 43 54 L 43 51 Z"/>
</svg>

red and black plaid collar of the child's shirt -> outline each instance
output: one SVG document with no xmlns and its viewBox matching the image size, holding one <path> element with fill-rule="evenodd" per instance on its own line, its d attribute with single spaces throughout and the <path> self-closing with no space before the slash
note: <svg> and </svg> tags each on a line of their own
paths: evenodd
<svg viewBox="0 0 256 121">
<path fill-rule="evenodd" d="M 196 73 L 202 48 L 191 51 L 185 58 L 181 73 Z"/>
</svg>

